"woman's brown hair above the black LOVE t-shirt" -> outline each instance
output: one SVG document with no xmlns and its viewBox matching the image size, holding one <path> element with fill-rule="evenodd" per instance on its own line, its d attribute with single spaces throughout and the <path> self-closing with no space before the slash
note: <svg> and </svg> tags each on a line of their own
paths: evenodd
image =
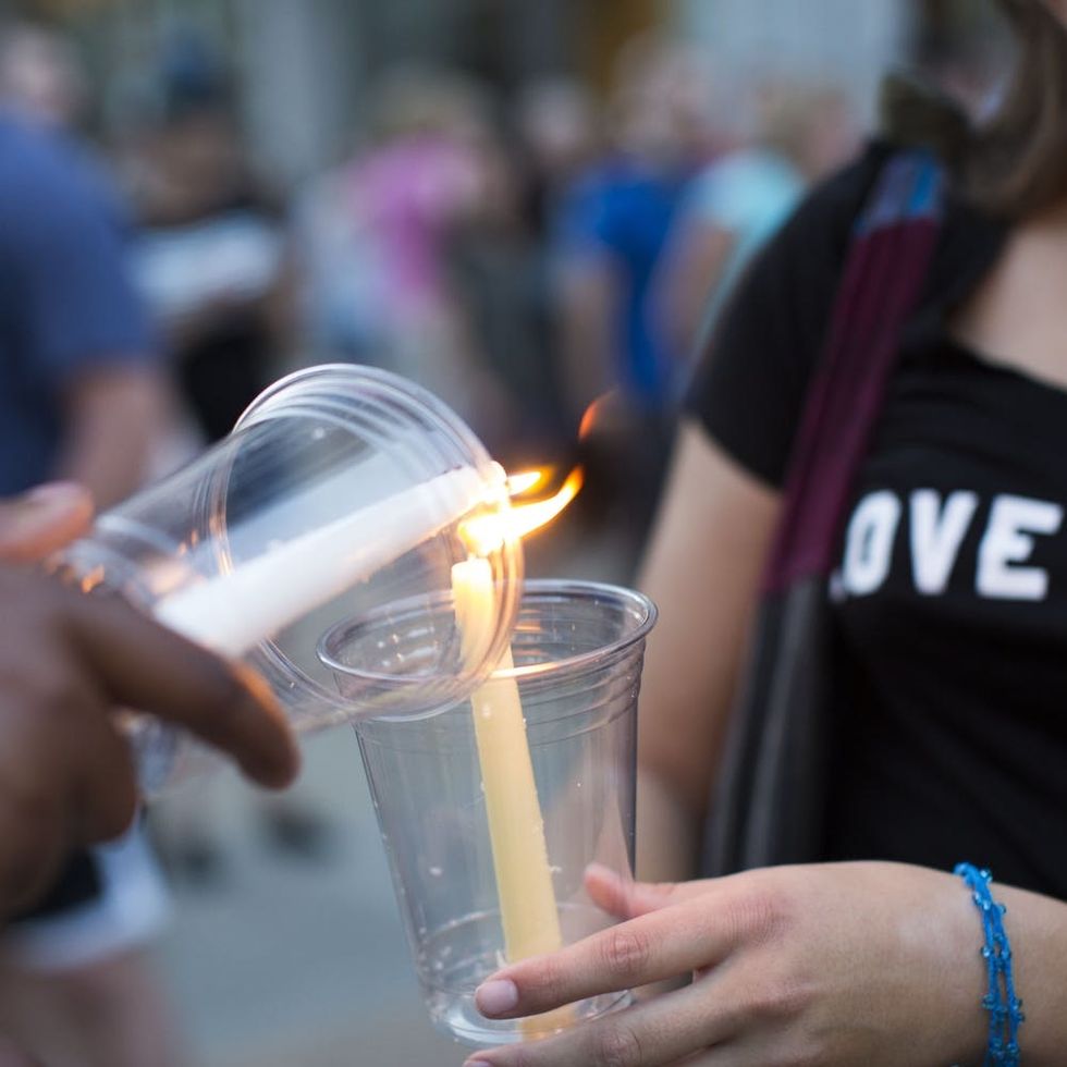
<svg viewBox="0 0 1067 1067">
<path fill-rule="evenodd" d="M 980 208 L 1010 221 L 1067 195 L 1067 30 L 1042 0 L 997 0 L 1017 42 L 996 111 L 971 125 L 962 110 L 915 82 L 883 87 L 892 139 L 932 147 Z"/>
</svg>

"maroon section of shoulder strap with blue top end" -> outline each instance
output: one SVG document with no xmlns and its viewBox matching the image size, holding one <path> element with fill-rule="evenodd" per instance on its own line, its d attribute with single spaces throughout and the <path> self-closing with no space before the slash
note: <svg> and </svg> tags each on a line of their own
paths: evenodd
<svg viewBox="0 0 1067 1067">
<path fill-rule="evenodd" d="M 937 242 L 944 174 L 928 152 L 882 168 L 851 238 L 826 345 L 809 388 L 785 483 L 764 591 L 829 575 L 902 329 L 919 302 Z"/>
</svg>

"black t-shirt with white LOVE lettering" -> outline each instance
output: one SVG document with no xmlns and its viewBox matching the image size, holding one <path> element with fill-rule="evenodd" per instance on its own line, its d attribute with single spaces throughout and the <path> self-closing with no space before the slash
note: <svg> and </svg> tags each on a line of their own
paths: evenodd
<svg viewBox="0 0 1067 1067">
<path fill-rule="evenodd" d="M 697 375 L 690 413 L 773 486 L 885 151 L 787 224 Z M 1067 898 L 1067 392 L 946 330 L 1003 240 L 949 198 L 848 507 L 825 858 L 966 859 Z"/>
</svg>

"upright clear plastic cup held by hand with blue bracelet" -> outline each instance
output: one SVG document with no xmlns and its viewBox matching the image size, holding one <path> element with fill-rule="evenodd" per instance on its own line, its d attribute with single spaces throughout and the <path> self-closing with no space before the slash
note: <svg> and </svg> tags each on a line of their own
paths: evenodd
<svg viewBox="0 0 1067 1067">
<path fill-rule="evenodd" d="M 431 618 L 447 626 L 452 604 Z M 527 582 L 512 637 L 517 683 L 562 943 L 614 921 L 584 888 L 586 868 L 629 874 L 634 861 L 637 696 L 655 609 L 640 593 L 572 581 Z M 342 623 L 321 655 L 342 692 L 396 670 L 434 641 L 420 611 Z M 434 1025 L 476 1046 L 508 1043 L 628 1003 L 598 996 L 564 1014 L 491 1021 L 478 984 L 506 961 L 476 708 L 465 699 L 418 718 L 355 724 L 397 902 Z M 525 830 L 519 827 L 519 832 Z"/>
</svg>

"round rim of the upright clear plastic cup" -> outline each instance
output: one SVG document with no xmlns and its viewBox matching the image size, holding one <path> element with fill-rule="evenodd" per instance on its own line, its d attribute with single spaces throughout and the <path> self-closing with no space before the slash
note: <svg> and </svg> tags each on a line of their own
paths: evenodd
<svg viewBox="0 0 1067 1067">
<path fill-rule="evenodd" d="M 539 678 L 545 674 L 560 674 L 579 671 L 591 663 L 602 663 L 604 659 L 611 659 L 631 648 L 639 641 L 645 640 L 655 625 L 659 616 L 659 609 L 652 600 L 645 593 L 625 586 L 615 585 L 608 581 L 591 581 L 579 578 L 532 578 L 523 582 L 522 594 L 518 599 L 518 612 L 522 613 L 523 605 L 528 600 L 562 598 L 569 600 L 610 600 L 621 610 L 635 610 L 637 625 L 626 634 L 615 638 L 606 645 L 589 649 L 585 652 L 577 652 L 574 655 L 565 657 L 561 660 L 551 660 L 545 663 L 530 663 L 525 666 L 510 667 L 506 671 L 495 670 L 486 679 L 490 680 L 527 680 Z M 443 598 L 442 598 L 443 599 Z M 371 618 L 371 615 L 363 616 Z M 339 630 L 351 627 L 355 621 L 343 618 L 330 627 L 319 638 L 317 652 L 319 662 L 323 666 L 339 674 L 348 675 L 353 678 L 365 678 L 368 682 L 391 683 L 392 685 L 410 685 L 416 679 L 401 678 L 395 675 L 380 674 L 372 671 L 361 671 L 357 667 L 341 663 L 328 649 L 327 645 L 332 635 Z M 424 679 L 424 682 L 429 679 Z"/>
</svg>

